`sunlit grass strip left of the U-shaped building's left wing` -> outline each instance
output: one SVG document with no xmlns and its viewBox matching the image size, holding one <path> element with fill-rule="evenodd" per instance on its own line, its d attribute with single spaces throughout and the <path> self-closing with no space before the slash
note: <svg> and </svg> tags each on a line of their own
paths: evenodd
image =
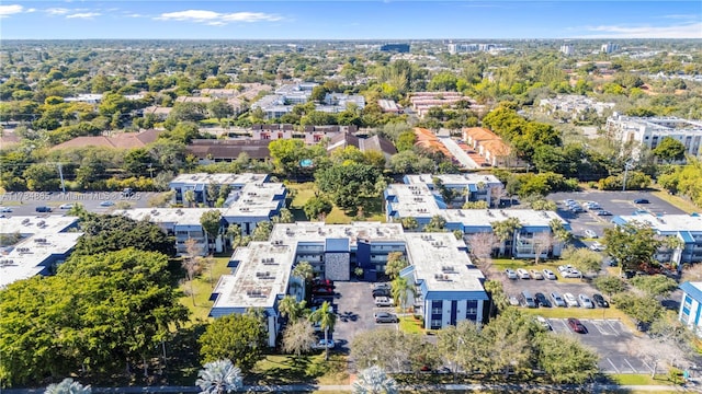
<svg viewBox="0 0 702 394">
<path fill-rule="evenodd" d="M 212 283 L 210 282 L 211 276 L 207 267 L 204 267 L 202 274 L 193 280 L 194 305 L 193 298 L 190 296 L 190 282 L 183 281 L 179 287 L 185 294 L 180 298 L 180 302 L 190 310 L 190 321 L 192 323 L 199 320 L 208 320 L 207 315 L 214 303 L 210 301 L 210 296 L 212 294 L 214 286 L 217 285 L 219 277 L 231 271 L 231 269 L 227 267 L 228 263 L 229 257 L 215 257 L 212 270 Z"/>
</svg>

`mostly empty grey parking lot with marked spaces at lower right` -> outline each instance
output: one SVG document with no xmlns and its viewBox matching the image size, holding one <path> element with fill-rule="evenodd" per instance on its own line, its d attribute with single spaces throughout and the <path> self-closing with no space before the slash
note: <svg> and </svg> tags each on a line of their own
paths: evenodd
<svg viewBox="0 0 702 394">
<path fill-rule="evenodd" d="M 580 323 L 587 334 L 576 334 L 565 318 L 548 318 L 554 333 L 574 335 L 600 355 L 600 369 L 605 373 L 650 373 L 653 367 L 636 355 L 634 335 L 619 320 L 587 320 Z"/>
</svg>

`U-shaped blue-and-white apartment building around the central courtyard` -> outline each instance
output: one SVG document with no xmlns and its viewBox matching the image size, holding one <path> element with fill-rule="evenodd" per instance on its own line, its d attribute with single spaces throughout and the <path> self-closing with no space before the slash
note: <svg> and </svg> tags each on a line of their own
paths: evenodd
<svg viewBox="0 0 702 394">
<path fill-rule="evenodd" d="M 364 279 L 376 280 L 385 271 L 387 255 L 404 253 L 409 266 L 400 274 L 417 287 L 407 305 L 424 315 L 427 328 L 483 320 L 487 294 L 484 276 L 471 263 L 463 241 L 450 233 L 406 233 L 398 223 L 324 222 L 279 223 L 269 242 L 252 242 L 231 256 L 231 275 L 215 286 L 210 312 L 213 317 L 265 311 L 269 345 L 280 335 L 279 302 L 287 294 L 304 298 L 304 286 L 291 271 L 301 262 L 312 264 L 316 276 L 349 280 L 354 268 Z"/>
</svg>

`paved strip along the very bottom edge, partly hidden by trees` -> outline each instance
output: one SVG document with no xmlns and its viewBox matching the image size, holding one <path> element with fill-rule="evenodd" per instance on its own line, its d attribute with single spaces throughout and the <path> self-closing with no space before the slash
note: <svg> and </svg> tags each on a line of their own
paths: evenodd
<svg viewBox="0 0 702 394">
<path fill-rule="evenodd" d="M 315 385 L 315 384 L 291 384 L 291 385 L 270 385 L 270 386 L 246 386 L 246 392 L 263 392 L 263 393 L 280 393 L 280 392 L 343 392 L 351 391 L 351 385 Z M 602 391 L 636 391 L 636 392 L 694 392 L 699 393 L 700 390 L 694 386 L 681 387 L 669 385 L 615 385 L 615 384 L 590 384 L 590 385 L 537 385 L 537 384 L 416 384 L 409 386 L 401 386 L 400 390 L 414 390 L 414 391 L 524 391 L 524 390 L 548 390 L 551 392 L 573 392 L 575 390 L 585 390 L 589 392 L 602 392 Z M 196 386 L 148 386 L 148 387 L 93 387 L 93 393 L 199 393 L 200 389 Z M 9 389 L 1 390 L 1 394 L 38 394 L 44 393 L 44 389 Z"/>
</svg>

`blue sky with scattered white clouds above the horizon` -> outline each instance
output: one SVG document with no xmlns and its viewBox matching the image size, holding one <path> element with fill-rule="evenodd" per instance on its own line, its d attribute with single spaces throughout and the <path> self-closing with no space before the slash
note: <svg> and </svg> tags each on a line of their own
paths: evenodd
<svg viewBox="0 0 702 394">
<path fill-rule="evenodd" d="M 12 38 L 702 38 L 702 1 L 12 1 Z"/>
</svg>

